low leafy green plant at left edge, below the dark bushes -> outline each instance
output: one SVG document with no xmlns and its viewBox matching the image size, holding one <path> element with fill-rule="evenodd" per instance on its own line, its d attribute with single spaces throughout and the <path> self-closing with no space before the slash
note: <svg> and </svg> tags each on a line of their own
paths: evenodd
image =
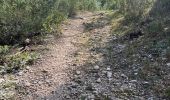
<svg viewBox="0 0 170 100">
<path fill-rule="evenodd" d="M 0 72 L 12 73 L 23 69 L 27 65 L 32 65 L 38 59 L 38 54 L 34 52 L 21 52 L 15 55 L 5 55 L 1 57 Z"/>
</svg>

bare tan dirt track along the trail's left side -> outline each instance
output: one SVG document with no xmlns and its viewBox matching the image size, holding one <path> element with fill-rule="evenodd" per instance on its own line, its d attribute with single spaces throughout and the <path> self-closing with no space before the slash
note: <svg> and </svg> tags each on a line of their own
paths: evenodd
<svg viewBox="0 0 170 100">
<path fill-rule="evenodd" d="M 77 35 L 83 33 L 83 23 L 92 18 L 92 13 L 81 14 L 76 18 L 69 19 L 63 25 L 63 35 L 60 39 L 54 40 L 48 45 L 49 51 L 42 55 L 42 58 L 29 70 L 24 71 L 20 76 L 19 84 L 23 87 L 19 98 L 22 100 L 37 100 L 53 92 L 56 87 L 69 81 L 69 73 L 74 69 L 71 66 L 72 54 L 77 50 L 73 45 Z"/>
</svg>

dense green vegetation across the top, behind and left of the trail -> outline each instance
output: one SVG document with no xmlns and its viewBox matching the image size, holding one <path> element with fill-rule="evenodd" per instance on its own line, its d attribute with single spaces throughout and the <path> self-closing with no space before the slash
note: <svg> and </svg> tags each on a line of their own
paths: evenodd
<svg viewBox="0 0 170 100">
<path fill-rule="evenodd" d="M 146 17 L 151 6 L 153 13 L 162 15 L 168 0 L 1 0 L 0 44 L 16 44 L 38 33 L 59 32 L 59 25 L 78 10 L 120 10 L 127 19 Z M 162 8 L 162 9 L 159 9 Z M 156 10 L 157 9 L 157 10 Z M 160 14 L 158 14 L 160 12 Z M 167 11 L 168 12 L 168 11 Z M 37 34 L 36 34 L 37 33 Z"/>
</svg>

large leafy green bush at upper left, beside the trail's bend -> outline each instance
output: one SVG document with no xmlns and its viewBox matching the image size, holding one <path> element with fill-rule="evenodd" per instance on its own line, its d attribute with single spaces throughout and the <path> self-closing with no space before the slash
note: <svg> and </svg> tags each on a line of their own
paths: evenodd
<svg viewBox="0 0 170 100">
<path fill-rule="evenodd" d="M 56 0 L 1 1 L 0 44 L 15 44 L 24 40 L 29 33 L 48 32 L 51 28 L 49 26 L 60 24 L 63 16 L 56 13 L 55 2 Z"/>
</svg>

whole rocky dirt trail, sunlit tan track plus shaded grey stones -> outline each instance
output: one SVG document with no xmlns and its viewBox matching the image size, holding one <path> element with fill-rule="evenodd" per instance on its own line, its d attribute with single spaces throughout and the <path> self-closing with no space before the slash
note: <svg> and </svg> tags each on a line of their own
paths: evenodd
<svg viewBox="0 0 170 100">
<path fill-rule="evenodd" d="M 62 37 L 48 39 L 49 51 L 16 76 L 17 100 L 160 100 L 158 87 L 165 80 L 147 72 L 145 62 L 156 61 L 146 47 L 136 46 L 144 37 L 122 39 L 122 18 L 109 14 L 84 12 L 68 19 Z"/>
</svg>

